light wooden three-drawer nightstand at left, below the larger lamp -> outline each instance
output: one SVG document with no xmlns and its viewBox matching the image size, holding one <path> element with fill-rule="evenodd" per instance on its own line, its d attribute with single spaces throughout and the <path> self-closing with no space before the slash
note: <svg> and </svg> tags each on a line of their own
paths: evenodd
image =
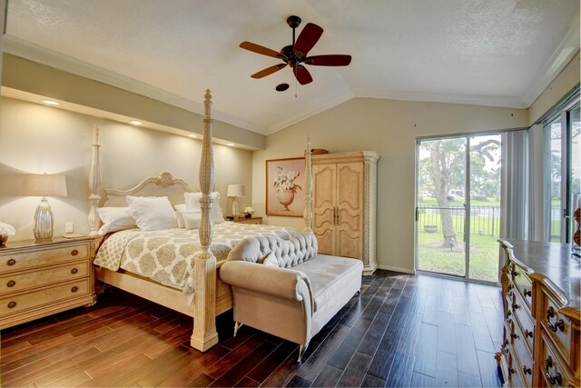
<svg viewBox="0 0 581 388">
<path fill-rule="evenodd" d="M 0 329 L 96 303 L 95 245 L 57 237 L 0 247 Z"/>
</svg>

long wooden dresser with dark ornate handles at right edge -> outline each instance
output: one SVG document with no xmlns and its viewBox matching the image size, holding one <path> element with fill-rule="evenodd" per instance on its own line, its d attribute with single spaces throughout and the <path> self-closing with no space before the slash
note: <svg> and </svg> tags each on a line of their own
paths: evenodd
<svg viewBox="0 0 581 388">
<path fill-rule="evenodd" d="M 579 258 L 570 244 L 498 241 L 507 263 L 496 358 L 507 386 L 579 386 Z"/>
</svg>

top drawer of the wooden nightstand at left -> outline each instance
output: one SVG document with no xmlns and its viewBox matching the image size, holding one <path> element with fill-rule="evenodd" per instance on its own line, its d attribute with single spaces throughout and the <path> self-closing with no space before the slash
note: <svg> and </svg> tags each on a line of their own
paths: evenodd
<svg viewBox="0 0 581 388">
<path fill-rule="evenodd" d="M 64 263 L 89 256 L 90 244 L 48 245 L 44 249 L 0 255 L 0 274 L 43 265 Z"/>
</svg>

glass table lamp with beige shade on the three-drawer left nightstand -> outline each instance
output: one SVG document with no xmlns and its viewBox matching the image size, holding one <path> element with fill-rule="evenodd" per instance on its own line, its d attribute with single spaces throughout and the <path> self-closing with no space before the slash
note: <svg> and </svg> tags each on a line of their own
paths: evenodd
<svg viewBox="0 0 581 388">
<path fill-rule="evenodd" d="M 53 237 L 53 212 L 47 196 L 66 196 L 64 175 L 26 174 L 22 182 L 22 195 L 42 196 L 34 213 L 34 238 L 36 240 Z"/>
</svg>

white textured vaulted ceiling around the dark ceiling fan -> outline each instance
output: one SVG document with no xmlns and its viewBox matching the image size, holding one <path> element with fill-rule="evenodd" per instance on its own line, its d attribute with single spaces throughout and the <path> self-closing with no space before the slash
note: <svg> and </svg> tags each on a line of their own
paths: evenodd
<svg viewBox="0 0 581 388">
<path fill-rule="evenodd" d="M 279 62 L 238 45 L 291 45 L 289 15 L 351 65 L 251 79 Z M 527 107 L 578 51 L 579 1 L 10 0 L 7 35 L 192 110 L 210 88 L 218 118 L 269 134 L 354 96 Z"/>
</svg>

